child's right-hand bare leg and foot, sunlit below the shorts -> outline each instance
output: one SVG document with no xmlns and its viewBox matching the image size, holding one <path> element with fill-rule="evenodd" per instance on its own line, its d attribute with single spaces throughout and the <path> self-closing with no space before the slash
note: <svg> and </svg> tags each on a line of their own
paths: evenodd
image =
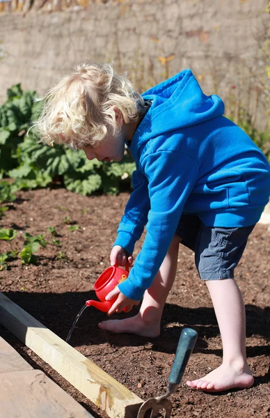
<svg viewBox="0 0 270 418">
<path fill-rule="evenodd" d="M 246 362 L 246 314 L 239 287 L 234 279 L 206 284 L 221 332 L 223 363 L 207 376 L 186 383 L 209 392 L 251 387 L 254 379 Z"/>
</svg>

